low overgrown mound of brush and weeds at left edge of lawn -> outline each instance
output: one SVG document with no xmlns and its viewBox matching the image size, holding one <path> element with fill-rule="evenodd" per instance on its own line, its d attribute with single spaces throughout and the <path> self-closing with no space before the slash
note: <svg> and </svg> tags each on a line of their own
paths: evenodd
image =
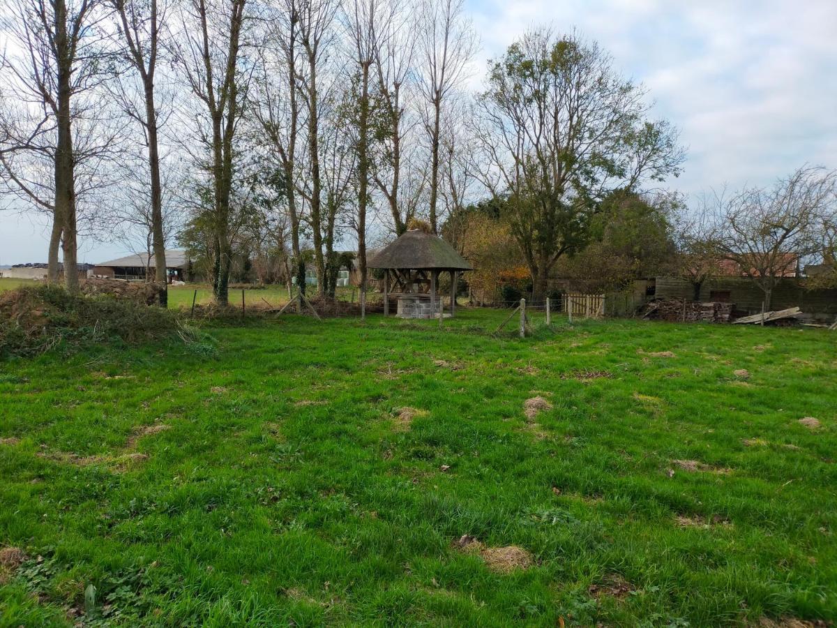
<svg viewBox="0 0 837 628">
<path fill-rule="evenodd" d="M 177 314 L 113 295 L 71 295 L 33 286 L 0 296 L 0 357 L 93 342 L 141 342 L 178 332 Z"/>
</svg>

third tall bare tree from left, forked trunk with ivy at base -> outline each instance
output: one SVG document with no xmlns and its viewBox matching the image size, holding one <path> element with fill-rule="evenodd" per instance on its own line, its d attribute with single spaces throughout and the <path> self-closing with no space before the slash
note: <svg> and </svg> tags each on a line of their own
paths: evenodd
<svg viewBox="0 0 837 628">
<path fill-rule="evenodd" d="M 198 133 L 210 153 L 213 295 L 223 306 L 229 302 L 232 261 L 235 136 L 249 82 L 240 58 L 245 4 L 246 0 L 190 0 L 179 42 L 172 43 L 175 61 L 208 116 L 208 132 L 198 129 Z"/>
</svg>

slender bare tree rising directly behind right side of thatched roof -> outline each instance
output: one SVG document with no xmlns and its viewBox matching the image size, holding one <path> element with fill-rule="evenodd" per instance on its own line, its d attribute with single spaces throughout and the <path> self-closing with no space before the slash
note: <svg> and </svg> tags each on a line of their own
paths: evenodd
<svg viewBox="0 0 837 628">
<path fill-rule="evenodd" d="M 424 99 L 424 126 L 430 143 L 429 219 L 438 233 L 439 147 L 445 100 L 467 78 L 478 46 L 464 0 L 422 0 L 419 27 L 419 90 Z"/>
</svg>

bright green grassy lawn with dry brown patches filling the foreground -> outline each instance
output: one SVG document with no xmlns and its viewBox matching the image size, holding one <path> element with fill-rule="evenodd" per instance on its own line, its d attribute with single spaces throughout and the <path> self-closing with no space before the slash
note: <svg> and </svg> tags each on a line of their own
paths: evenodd
<svg viewBox="0 0 837 628">
<path fill-rule="evenodd" d="M 837 619 L 837 334 L 501 317 L 0 363 L 0 625 Z"/>
</svg>

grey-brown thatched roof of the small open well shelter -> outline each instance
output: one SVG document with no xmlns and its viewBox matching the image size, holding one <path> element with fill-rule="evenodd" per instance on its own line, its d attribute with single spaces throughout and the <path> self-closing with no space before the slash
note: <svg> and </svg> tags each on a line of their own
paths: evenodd
<svg viewBox="0 0 837 628">
<path fill-rule="evenodd" d="M 367 262 L 369 268 L 411 270 L 474 270 L 462 255 L 438 235 L 410 229 L 383 247 Z"/>
</svg>

